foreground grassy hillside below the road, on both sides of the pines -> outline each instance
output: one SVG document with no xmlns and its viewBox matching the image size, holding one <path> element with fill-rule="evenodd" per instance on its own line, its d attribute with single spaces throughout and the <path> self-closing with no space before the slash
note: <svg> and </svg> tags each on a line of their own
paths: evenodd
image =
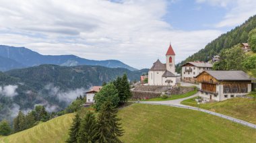
<svg viewBox="0 0 256 143">
<path fill-rule="evenodd" d="M 0 142 L 63 142 L 72 114 L 57 117 Z M 163 105 L 133 104 L 119 111 L 123 142 L 255 142 L 256 130 L 207 113 Z"/>
</svg>

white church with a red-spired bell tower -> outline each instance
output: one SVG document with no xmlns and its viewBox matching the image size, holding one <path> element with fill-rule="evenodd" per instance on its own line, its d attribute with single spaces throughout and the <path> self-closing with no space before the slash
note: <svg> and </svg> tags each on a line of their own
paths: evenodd
<svg viewBox="0 0 256 143">
<path fill-rule="evenodd" d="M 148 85 L 175 85 L 175 53 L 170 45 L 166 52 L 166 64 L 156 60 L 148 72 Z"/>
</svg>

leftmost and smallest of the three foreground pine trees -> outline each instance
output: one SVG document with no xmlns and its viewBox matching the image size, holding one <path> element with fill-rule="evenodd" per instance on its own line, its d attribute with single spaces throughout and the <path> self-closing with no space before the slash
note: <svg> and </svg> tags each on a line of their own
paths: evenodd
<svg viewBox="0 0 256 143">
<path fill-rule="evenodd" d="M 66 142 L 68 143 L 77 142 L 80 122 L 81 121 L 80 121 L 79 115 L 75 114 L 75 118 L 73 119 L 73 123 L 71 125 L 71 128 L 69 129 L 69 138 L 66 140 Z"/>
</svg>

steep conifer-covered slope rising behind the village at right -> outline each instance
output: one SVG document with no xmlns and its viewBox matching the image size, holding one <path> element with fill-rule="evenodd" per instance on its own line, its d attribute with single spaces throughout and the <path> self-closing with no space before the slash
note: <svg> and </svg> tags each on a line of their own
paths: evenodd
<svg viewBox="0 0 256 143">
<path fill-rule="evenodd" d="M 207 44 L 205 48 L 199 50 L 199 52 L 196 52 L 195 54 L 189 56 L 188 58 L 177 64 L 177 72 L 181 72 L 181 65 L 185 64 L 185 62 L 195 60 L 208 61 L 212 58 L 212 56 L 218 55 L 223 49 L 232 48 L 232 46 L 235 46 L 236 44 L 247 42 L 249 38 L 248 34 L 254 28 L 256 28 L 256 15 L 250 17 L 241 26 L 237 26 L 230 32 L 222 34 L 221 36 Z"/>
</svg>

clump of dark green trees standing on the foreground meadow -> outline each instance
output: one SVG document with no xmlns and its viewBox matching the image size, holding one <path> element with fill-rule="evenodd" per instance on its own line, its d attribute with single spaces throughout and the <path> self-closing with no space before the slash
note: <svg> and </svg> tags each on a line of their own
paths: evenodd
<svg viewBox="0 0 256 143">
<path fill-rule="evenodd" d="M 66 142 L 121 142 L 121 120 L 117 117 L 119 105 L 126 105 L 131 97 L 127 75 L 117 77 L 94 96 L 96 112 L 87 111 L 84 117 L 77 113 Z"/>
</svg>

